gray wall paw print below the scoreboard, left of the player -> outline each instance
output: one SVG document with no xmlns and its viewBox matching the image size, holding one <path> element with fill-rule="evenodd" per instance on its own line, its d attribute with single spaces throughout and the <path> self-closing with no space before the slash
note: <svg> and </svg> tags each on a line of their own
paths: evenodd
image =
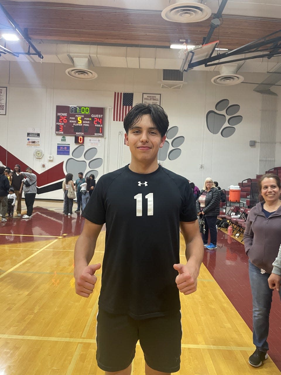
<svg viewBox="0 0 281 375">
<path fill-rule="evenodd" d="M 84 144 L 81 144 L 72 151 L 71 155 L 73 158 L 66 160 L 66 173 L 72 173 L 74 180 L 77 178 L 79 172 L 83 172 L 83 177 L 85 178 L 89 177 L 90 174 L 93 174 L 95 178 L 97 178 L 99 172 L 96 170 L 96 168 L 102 166 L 103 159 L 100 157 L 94 159 L 97 154 L 96 147 L 92 147 L 87 151 L 84 151 L 85 146 Z M 90 170 L 88 170 L 85 174 L 87 167 L 89 167 Z"/>
</svg>

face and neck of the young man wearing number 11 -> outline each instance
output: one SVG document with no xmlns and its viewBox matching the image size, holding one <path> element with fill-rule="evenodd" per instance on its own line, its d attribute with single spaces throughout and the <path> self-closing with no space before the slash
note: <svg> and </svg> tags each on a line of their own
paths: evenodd
<svg viewBox="0 0 281 375">
<path fill-rule="evenodd" d="M 136 163 L 157 163 L 159 148 L 163 147 L 166 136 L 161 137 L 151 121 L 151 117 L 145 114 L 141 119 L 129 129 L 125 134 L 125 143 L 130 147 L 132 154 L 131 164 Z"/>
</svg>

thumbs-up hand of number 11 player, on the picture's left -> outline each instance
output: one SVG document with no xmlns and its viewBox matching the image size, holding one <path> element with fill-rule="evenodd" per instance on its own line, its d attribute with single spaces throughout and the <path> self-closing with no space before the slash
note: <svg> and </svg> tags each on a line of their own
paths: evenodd
<svg viewBox="0 0 281 375">
<path fill-rule="evenodd" d="M 79 270 L 75 275 L 75 290 L 76 293 L 81 297 L 89 297 L 93 293 L 95 284 L 97 282 L 97 276 L 95 276 L 96 270 L 99 270 L 101 264 L 90 264 L 84 269 Z"/>
</svg>

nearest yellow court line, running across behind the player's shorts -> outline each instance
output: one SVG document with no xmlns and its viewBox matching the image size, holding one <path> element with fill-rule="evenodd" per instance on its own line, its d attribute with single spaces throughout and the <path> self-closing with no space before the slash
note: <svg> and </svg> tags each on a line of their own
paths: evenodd
<svg viewBox="0 0 281 375">
<path fill-rule="evenodd" d="M 79 344 L 96 344 L 96 339 L 85 339 L 85 338 L 67 338 L 67 337 L 42 337 L 42 336 L 23 336 L 23 335 L 1 335 L 2 339 L 18 339 L 18 340 L 37 340 L 37 341 L 62 341 L 62 342 L 78 342 Z M 139 341 L 137 342 L 139 344 Z M 220 345 L 196 345 L 196 344 L 181 344 L 182 348 L 192 349 L 213 349 L 213 350 L 240 350 L 240 351 L 251 351 L 253 347 L 226 347 Z"/>
</svg>

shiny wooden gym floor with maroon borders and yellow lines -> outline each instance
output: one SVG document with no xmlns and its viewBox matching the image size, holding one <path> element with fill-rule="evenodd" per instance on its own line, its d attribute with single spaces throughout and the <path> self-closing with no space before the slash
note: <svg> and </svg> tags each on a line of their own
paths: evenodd
<svg viewBox="0 0 281 375">
<path fill-rule="evenodd" d="M 104 374 L 95 359 L 101 273 L 88 299 L 74 288 L 73 251 L 84 219 L 63 217 L 61 202 L 36 201 L 32 219 L 7 220 L 0 224 L 0 375 Z M 102 231 L 92 263 L 102 263 L 104 242 Z M 180 254 L 183 263 L 182 238 Z M 256 369 L 248 364 L 254 346 L 247 257 L 241 243 L 219 231 L 217 251 L 205 251 L 197 292 L 181 295 L 182 356 L 176 374 L 280 374 L 277 297 L 274 293 L 270 358 Z M 144 374 L 139 345 L 132 374 Z"/>
</svg>

